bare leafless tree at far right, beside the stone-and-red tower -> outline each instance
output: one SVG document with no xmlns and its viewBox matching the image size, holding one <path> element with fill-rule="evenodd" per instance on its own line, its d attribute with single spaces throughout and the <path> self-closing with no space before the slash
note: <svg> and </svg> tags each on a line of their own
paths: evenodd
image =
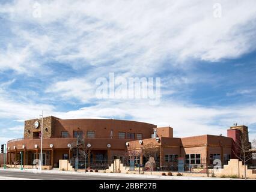
<svg viewBox="0 0 256 192">
<path fill-rule="evenodd" d="M 242 134 L 240 136 L 240 140 L 235 144 L 235 148 L 233 151 L 233 154 L 236 155 L 236 157 L 243 162 L 243 165 L 245 166 L 245 179 L 246 178 L 246 163 L 252 159 L 252 153 L 249 151 L 251 149 L 251 143 L 248 142 L 248 139 L 246 138 L 245 134 Z"/>
</svg>

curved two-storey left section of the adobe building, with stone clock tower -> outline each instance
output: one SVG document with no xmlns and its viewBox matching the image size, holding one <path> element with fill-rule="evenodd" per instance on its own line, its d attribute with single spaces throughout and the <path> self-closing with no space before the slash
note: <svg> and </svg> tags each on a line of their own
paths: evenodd
<svg viewBox="0 0 256 192">
<path fill-rule="evenodd" d="M 115 119 L 59 119 L 54 116 L 43 118 L 43 122 L 31 119 L 25 121 L 22 139 L 8 141 L 7 164 L 20 164 L 21 155 L 25 165 L 40 159 L 42 130 L 42 163 L 58 167 L 59 160 L 70 160 L 76 155 L 70 145 L 76 146 L 78 139 L 90 148 L 87 161 L 101 163 L 124 155 L 126 142 L 151 138 L 153 128 L 156 125 Z"/>
</svg>

